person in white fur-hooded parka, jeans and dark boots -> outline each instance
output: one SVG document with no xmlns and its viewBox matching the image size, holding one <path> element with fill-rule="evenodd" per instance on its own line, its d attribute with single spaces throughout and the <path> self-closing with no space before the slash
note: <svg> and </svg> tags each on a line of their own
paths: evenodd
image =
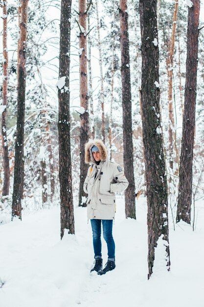
<svg viewBox="0 0 204 307">
<path fill-rule="evenodd" d="M 91 269 L 98 275 L 106 274 L 115 268 L 115 243 L 113 240 L 113 220 L 115 217 L 115 193 L 128 187 L 121 167 L 108 160 L 106 146 L 94 139 L 85 145 L 85 162 L 91 164 L 84 182 L 88 194 L 87 215 L 91 220 L 95 265 Z M 101 254 L 101 224 L 103 237 L 107 243 L 108 261 L 103 269 Z"/>
</svg>

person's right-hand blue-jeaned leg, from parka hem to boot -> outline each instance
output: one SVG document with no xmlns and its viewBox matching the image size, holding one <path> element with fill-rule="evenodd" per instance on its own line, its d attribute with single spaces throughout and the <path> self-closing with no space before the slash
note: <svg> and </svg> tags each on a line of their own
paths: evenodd
<svg viewBox="0 0 204 307">
<path fill-rule="evenodd" d="M 113 240 L 113 220 L 102 220 L 103 237 L 107 243 L 108 260 L 115 260 L 115 243 Z"/>
</svg>

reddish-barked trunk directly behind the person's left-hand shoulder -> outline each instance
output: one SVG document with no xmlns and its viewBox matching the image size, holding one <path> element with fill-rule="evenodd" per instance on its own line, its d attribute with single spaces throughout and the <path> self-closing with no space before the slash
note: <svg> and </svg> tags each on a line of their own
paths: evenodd
<svg viewBox="0 0 204 307">
<path fill-rule="evenodd" d="M 79 206 L 86 206 L 87 195 L 83 185 L 87 176 L 88 166 L 85 164 L 85 144 L 89 141 L 89 112 L 88 112 L 88 82 L 87 82 L 87 7 L 86 0 L 79 0 L 79 78 L 80 104 L 85 112 L 80 115 L 80 182 Z"/>
</svg>

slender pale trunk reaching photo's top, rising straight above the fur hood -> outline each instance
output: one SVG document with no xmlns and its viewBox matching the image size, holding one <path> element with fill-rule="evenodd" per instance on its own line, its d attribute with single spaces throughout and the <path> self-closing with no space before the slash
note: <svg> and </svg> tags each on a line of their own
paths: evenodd
<svg viewBox="0 0 204 307">
<path fill-rule="evenodd" d="M 100 21 L 98 16 L 98 0 L 95 0 L 96 4 L 96 17 L 97 17 L 97 32 L 98 32 L 98 51 L 99 51 L 99 66 L 100 66 L 100 78 L 101 78 L 101 111 L 102 111 L 102 140 L 105 143 L 105 116 L 104 116 L 104 86 L 103 86 L 103 69 L 102 69 L 102 52 L 101 52 L 101 38 L 100 38 Z"/>
</svg>

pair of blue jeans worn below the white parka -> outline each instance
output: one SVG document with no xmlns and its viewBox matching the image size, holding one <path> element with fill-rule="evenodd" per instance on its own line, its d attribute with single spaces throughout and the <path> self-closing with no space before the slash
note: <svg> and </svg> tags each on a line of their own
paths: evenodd
<svg viewBox="0 0 204 307">
<path fill-rule="evenodd" d="M 93 232 L 93 250 L 94 258 L 101 258 L 101 221 L 103 225 L 103 237 L 107 243 L 108 260 L 115 259 L 115 243 L 113 240 L 113 220 L 91 219 L 91 228 Z"/>
</svg>

